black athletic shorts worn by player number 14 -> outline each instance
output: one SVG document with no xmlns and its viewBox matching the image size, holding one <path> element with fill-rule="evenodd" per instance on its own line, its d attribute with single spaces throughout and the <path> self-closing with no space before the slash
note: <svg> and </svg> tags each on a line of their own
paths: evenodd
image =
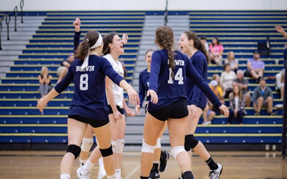
<svg viewBox="0 0 287 179">
<path fill-rule="evenodd" d="M 161 121 L 166 121 L 168 118 L 181 119 L 183 117 L 187 117 L 187 100 L 179 99 L 168 106 L 164 106 L 163 108 L 153 111 L 149 110 L 149 114 Z"/>
</svg>

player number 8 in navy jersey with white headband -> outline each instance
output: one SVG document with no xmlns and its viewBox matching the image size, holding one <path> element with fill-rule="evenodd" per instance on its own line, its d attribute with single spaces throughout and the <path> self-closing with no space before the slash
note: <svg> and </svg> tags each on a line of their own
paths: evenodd
<svg viewBox="0 0 287 179">
<path fill-rule="evenodd" d="M 93 132 L 98 139 L 99 152 L 103 156 L 107 178 L 116 178 L 112 159 L 111 127 L 105 97 L 105 76 L 109 76 L 116 84 L 124 87 L 133 103 L 139 103 L 140 99 L 133 87 L 112 69 L 107 59 L 100 57 L 102 48 L 100 33 L 89 31 L 76 50 L 76 60 L 69 67 L 65 78 L 37 104 L 39 110 L 43 112 L 48 101 L 64 91 L 74 80 L 74 96 L 67 120 L 69 144 L 60 165 L 61 179 L 70 178 L 72 164 L 81 152 L 79 146 L 88 124 L 94 127 Z"/>
</svg>

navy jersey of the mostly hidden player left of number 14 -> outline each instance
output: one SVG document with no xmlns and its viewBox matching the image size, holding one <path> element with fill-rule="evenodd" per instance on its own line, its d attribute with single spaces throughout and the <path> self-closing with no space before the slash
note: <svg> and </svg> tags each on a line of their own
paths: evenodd
<svg viewBox="0 0 287 179">
<path fill-rule="evenodd" d="M 149 89 L 149 72 L 147 72 L 147 69 L 140 72 L 140 78 L 139 78 L 139 92 L 138 96 L 140 96 L 140 107 L 142 107 L 142 103 L 145 100 L 145 96 L 147 95 L 147 90 Z M 147 101 L 149 100 L 149 97 L 147 97 Z"/>
</svg>

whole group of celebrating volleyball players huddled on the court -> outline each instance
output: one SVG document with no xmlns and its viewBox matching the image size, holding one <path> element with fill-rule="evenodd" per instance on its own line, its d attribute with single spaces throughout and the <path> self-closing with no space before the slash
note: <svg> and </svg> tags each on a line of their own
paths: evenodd
<svg viewBox="0 0 287 179">
<path fill-rule="evenodd" d="M 74 27 L 79 29 L 80 20 Z M 79 42 L 79 30 L 74 42 Z M 77 38 L 77 39 L 76 39 Z M 124 53 L 128 36 L 121 39 L 116 33 L 104 37 L 98 31 L 88 31 L 81 43 L 74 43 L 75 60 L 65 78 L 38 101 L 44 107 L 74 81 L 74 95 L 67 119 L 68 147 L 60 164 L 60 178 L 71 178 L 74 159 L 80 158 L 77 177 L 89 179 L 95 162 L 99 162 L 98 178 L 121 178 L 121 161 L 126 131 L 125 115 L 135 116 L 124 99 L 124 90 L 139 114 L 145 97 L 145 127 L 140 158 L 140 178 L 160 178 L 166 170 L 169 154 L 161 151 L 161 136 L 168 127 L 171 155 L 180 166 L 183 179 L 194 178 L 190 155 L 194 150 L 211 169 L 209 178 L 220 178 L 222 166 L 215 163 L 204 145 L 194 138 L 199 117 L 206 107 L 206 98 L 229 115 L 207 83 L 206 49 L 192 31 L 179 39 L 181 52 L 173 48 L 175 38 L 170 27 L 159 27 L 155 43 L 159 50 L 149 49 L 145 55 L 147 69 L 140 73 L 139 94 L 124 80 L 124 69 L 119 56 Z M 101 55 L 104 54 L 103 57 Z M 187 54 L 187 55 L 185 55 Z M 93 145 L 97 147 L 88 157 Z"/>
</svg>

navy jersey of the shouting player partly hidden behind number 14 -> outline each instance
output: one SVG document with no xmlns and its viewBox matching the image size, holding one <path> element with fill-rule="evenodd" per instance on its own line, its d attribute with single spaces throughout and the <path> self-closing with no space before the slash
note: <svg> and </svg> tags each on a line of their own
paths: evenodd
<svg viewBox="0 0 287 179">
<path fill-rule="evenodd" d="M 199 75 L 207 82 L 207 59 L 206 56 L 201 51 L 197 51 L 190 58 L 194 68 L 199 73 Z M 194 80 L 187 78 L 187 105 L 194 104 L 199 108 L 205 108 L 207 99 L 206 95 L 199 90 L 199 87 L 194 85 Z"/>
</svg>

